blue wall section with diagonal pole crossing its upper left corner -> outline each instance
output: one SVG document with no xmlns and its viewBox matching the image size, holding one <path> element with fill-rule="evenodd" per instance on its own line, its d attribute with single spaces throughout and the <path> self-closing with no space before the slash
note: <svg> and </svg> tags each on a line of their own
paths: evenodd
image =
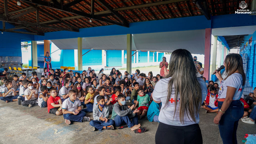
<svg viewBox="0 0 256 144">
<path fill-rule="evenodd" d="M 88 52 L 89 49 L 83 49 L 82 54 Z M 83 55 L 83 66 L 102 65 L 102 50 L 91 50 Z"/>
</svg>

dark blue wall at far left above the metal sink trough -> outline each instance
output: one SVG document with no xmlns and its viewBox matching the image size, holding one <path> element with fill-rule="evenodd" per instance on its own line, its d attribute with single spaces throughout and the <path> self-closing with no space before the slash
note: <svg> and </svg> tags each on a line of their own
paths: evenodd
<svg viewBox="0 0 256 144">
<path fill-rule="evenodd" d="M 6 29 L 14 28 L 14 25 L 5 23 Z M 0 23 L 0 27 L 3 27 L 3 23 Z M 20 30 L 21 31 L 21 30 Z M 23 30 L 24 31 L 24 30 Z M 21 54 L 21 40 L 34 40 L 33 35 L 18 34 L 4 32 L 0 33 L 0 56 L 22 56 Z"/>
</svg>

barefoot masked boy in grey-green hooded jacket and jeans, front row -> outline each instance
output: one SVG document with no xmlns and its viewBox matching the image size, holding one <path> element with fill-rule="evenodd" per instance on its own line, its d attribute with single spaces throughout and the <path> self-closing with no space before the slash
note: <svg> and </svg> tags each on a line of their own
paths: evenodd
<svg viewBox="0 0 256 144">
<path fill-rule="evenodd" d="M 134 105 L 132 105 L 130 108 L 126 105 L 125 95 L 120 94 L 118 95 L 117 99 L 118 102 L 116 102 L 114 105 L 111 117 L 111 119 L 115 122 L 115 126 L 120 127 L 121 125 L 128 125 L 132 131 L 140 128 L 141 124 L 138 124 L 137 116 L 138 110 L 135 109 L 132 111 Z M 132 119 L 132 122 L 130 119 Z"/>
</svg>

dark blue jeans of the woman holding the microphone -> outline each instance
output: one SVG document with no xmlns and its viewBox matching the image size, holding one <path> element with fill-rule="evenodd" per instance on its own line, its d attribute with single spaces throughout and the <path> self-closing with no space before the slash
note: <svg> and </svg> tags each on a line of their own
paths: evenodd
<svg viewBox="0 0 256 144">
<path fill-rule="evenodd" d="M 223 102 L 218 101 L 220 109 Z M 238 121 L 243 117 L 244 109 L 240 100 L 232 101 L 219 122 L 220 136 L 223 144 L 237 144 Z"/>
</svg>

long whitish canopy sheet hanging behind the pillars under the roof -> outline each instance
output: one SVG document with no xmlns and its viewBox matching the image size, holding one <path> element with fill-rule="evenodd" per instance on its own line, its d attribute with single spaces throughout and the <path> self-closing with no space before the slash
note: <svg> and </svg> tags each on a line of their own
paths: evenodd
<svg viewBox="0 0 256 144">
<path fill-rule="evenodd" d="M 187 49 L 193 54 L 204 54 L 205 29 L 175 32 L 133 34 L 132 50 L 173 52 L 175 49 Z M 85 37 L 82 49 L 126 50 L 126 35 Z M 51 40 L 59 49 L 77 49 L 78 39 Z"/>
</svg>

